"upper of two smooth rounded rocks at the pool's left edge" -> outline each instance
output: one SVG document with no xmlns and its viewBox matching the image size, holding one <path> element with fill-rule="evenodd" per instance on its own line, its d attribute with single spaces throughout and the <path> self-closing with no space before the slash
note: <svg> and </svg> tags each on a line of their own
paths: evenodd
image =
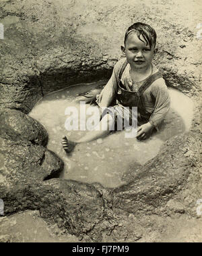
<svg viewBox="0 0 202 256">
<path fill-rule="evenodd" d="M 45 146 L 48 134 L 42 124 L 15 109 L 0 111 L 0 136 L 9 140 L 29 140 L 33 144 Z"/>
</svg>

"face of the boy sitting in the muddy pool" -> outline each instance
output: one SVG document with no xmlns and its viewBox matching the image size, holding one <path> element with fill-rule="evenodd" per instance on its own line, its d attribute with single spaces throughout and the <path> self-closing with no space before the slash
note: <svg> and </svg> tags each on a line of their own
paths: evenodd
<svg viewBox="0 0 202 256">
<path fill-rule="evenodd" d="M 149 44 L 143 39 L 143 36 L 137 37 L 135 32 L 131 32 L 125 42 L 125 47 L 121 47 L 127 61 L 133 69 L 147 69 L 151 66 L 151 61 L 156 53 L 154 45 L 149 47 Z"/>
</svg>

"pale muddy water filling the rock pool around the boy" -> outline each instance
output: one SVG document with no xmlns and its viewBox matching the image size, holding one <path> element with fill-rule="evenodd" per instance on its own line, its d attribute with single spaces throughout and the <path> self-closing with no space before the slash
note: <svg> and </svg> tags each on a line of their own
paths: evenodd
<svg viewBox="0 0 202 256">
<path fill-rule="evenodd" d="M 63 135 L 74 140 L 81 138 L 86 131 L 65 129 L 65 121 L 70 117 L 70 113 L 69 116 L 65 115 L 65 109 L 74 106 L 79 113 L 80 110 L 83 111 L 77 101 L 85 98 L 78 94 L 96 93 L 98 87 L 105 82 L 78 84 L 46 95 L 38 101 L 30 116 L 46 128 L 49 135 L 48 149 L 63 159 L 65 168 L 61 177 L 88 183 L 100 182 L 106 187 L 116 187 L 124 184 L 122 176 L 129 172 L 131 166 L 138 168 L 143 165 L 158 154 L 165 140 L 189 130 L 193 118 L 193 102 L 189 97 L 169 88 L 170 112 L 160 131 L 154 133 L 151 138 L 139 141 L 136 138 L 126 138 L 125 131 L 112 132 L 106 138 L 77 145 L 73 153 L 67 155 L 61 146 Z M 88 106 L 86 105 L 87 108 Z M 83 115 L 78 118 L 85 122 Z M 88 118 L 86 120 L 88 121 Z"/>
</svg>

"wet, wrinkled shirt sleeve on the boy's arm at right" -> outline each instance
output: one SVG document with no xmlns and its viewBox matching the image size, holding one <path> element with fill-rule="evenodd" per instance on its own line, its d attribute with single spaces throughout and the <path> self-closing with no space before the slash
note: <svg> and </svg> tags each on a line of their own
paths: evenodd
<svg viewBox="0 0 202 256">
<path fill-rule="evenodd" d="M 158 125 L 162 122 L 162 120 L 164 120 L 170 109 L 170 95 L 163 78 L 156 80 L 152 84 L 151 94 L 156 101 L 154 111 L 149 118 L 149 122 L 158 130 Z"/>
</svg>

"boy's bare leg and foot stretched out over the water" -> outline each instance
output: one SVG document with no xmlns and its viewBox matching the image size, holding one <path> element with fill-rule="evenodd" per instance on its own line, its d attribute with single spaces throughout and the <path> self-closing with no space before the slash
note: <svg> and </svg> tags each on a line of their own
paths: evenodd
<svg viewBox="0 0 202 256">
<path fill-rule="evenodd" d="M 113 126 L 114 119 L 112 118 L 112 116 L 110 116 L 109 113 L 107 113 L 94 130 L 87 132 L 87 134 L 79 140 L 70 141 L 67 140 L 66 136 L 64 136 L 62 140 L 63 148 L 65 149 L 65 151 L 71 152 L 75 145 L 77 145 L 78 143 L 86 143 L 88 141 L 96 140 L 97 138 L 106 136 L 110 133 L 110 130 L 112 130 Z"/>
</svg>

